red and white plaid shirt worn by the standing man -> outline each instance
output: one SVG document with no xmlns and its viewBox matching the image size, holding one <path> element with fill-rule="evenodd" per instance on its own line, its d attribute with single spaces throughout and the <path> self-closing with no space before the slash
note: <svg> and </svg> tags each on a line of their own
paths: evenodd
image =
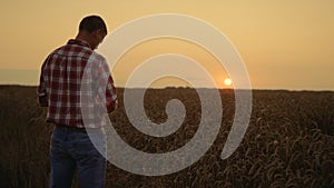
<svg viewBox="0 0 334 188">
<path fill-rule="evenodd" d="M 104 115 L 117 108 L 106 60 L 81 40 L 71 39 L 49 55 L 37 93 L 41 106 L 48 107 L 48 122 L 78 128 L 104 126 Z"/>
</svg>

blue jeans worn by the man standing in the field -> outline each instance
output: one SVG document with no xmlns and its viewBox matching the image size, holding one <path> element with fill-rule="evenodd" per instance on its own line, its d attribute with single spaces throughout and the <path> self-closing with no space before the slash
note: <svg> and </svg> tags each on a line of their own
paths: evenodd
<svg viewBox="0 0 334 188">
<path fill-rule="evenodd" d="M 89 133 L 95 144 L 106 154 L 106 138 L 102 129 Z M 106 184 L 106 158 L 90 141 L 87 132 L 57 127 L 51 136 L 50 188 L 70 188 L 75 169 L 80 188 L 104 188 Z"/>
</svg>

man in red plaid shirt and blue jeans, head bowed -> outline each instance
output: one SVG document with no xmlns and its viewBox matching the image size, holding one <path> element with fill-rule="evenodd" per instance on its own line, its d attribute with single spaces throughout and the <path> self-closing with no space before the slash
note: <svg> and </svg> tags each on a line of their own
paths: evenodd
<svg viewBox="0 0 334 188">
<path fill-rule="evenodd" d="M 81 188 L 105 187 L 101 113 L 104 109 L 114 111 L 117 98 L 106 60 L 94 50 L 106 34 L 107 27 L 100 17 L 86 17 L 76 39 L 50 53 L 42 65 L 37 93 L 40 106 L 48 107 L 47 121 L 56 125 L 50 141 L 52 188 L 70 188 L 75 169 Z M 92 137 L 99 148 L 90 140 Z"/>
</svg>

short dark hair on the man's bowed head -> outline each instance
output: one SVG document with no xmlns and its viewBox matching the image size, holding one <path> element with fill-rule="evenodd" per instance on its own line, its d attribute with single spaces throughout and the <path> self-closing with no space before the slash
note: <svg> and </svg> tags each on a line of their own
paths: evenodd
<svg viewBox="0 0 334 188">
<path fill-rule="evenodd" d="M 106 32 L 107 34 L 107 27 L 105 21 L 102 20 L 101 17 L 99 16 L 88 16 L 85 17 L 79 26 L 79 31 L 88 31 L 88 32 L 92 32 L 96 31 L 98 29 L 101 29 L 104 32 Z"/>
</svg>

